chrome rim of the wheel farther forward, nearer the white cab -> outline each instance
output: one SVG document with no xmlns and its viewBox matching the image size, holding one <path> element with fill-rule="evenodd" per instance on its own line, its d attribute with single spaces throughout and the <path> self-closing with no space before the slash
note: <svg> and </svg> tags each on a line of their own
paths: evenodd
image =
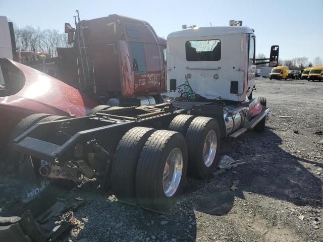
<svg viewBox="0 0 323 242">
<path fill-rule="evenodd" d="M 211 130 L 208 132 L 203 146 L 203 160 L 206 167 L 209 167 L 216 157 L 217 144 L 217 133 L 214 130 Z"/>
</svg>

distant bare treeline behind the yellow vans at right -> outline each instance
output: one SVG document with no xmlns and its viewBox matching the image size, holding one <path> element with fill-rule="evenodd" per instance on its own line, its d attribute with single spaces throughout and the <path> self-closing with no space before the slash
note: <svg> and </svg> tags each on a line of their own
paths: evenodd
<svg viewBox="0 0 323 242">
<path fill-rule="evenodd" d="M 264 54 L 259 53 L 257 54 L 257 58 L 266 57 Z M 300 70 L 307 67 L 323 66 L 323 59 L 319 56 L 316 56 L 314 59 L 312 59 L 312 61 L 309 61 L 309 59 L 305 56 L 296 57 L 293 59 L 279 59 L 278 66 L 287 66 L 289 70 Z"/>
</svg>

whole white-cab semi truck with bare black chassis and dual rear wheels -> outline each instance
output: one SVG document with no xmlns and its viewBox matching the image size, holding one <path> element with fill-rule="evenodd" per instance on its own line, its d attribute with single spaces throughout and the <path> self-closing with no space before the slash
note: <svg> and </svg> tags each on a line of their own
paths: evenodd
<svg viewBox="0 0 323 242">
<path fill-rule="evenodd" d="M 171 102 L 100 105 L 86 117 L 45 115 L 46 122 L 32 127 L 33 117 L 22 121 L 13 147 L 22 154 L 26 199 L 51 179 L 95 177 L 121 202 L 166 213 L 186 175 L 206 178 L 217 167 L 222 139 L 263 131 L 269 109 L 264 97 L 252 97 L 255 70 L 257 64 L 277 66 L 278 53 L 272 46 L 270 58 L 255 59 L 254 31 L 243 26 L 171 33 Z"/>
</svg>

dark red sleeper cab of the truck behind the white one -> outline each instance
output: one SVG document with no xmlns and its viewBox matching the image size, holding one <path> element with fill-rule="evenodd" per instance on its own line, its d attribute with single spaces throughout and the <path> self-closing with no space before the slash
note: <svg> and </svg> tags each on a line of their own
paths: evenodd
<svg viewBox="0 0 323 242">
<path fill-rule="evenodd" d="M 58 48 L 62 81 L 107 100 L 165 91 L 166 40 L 158 37 L 147 22 L 114 14 L 82 20 L 76 30 L 66 32 L 76 34 L 73 48 Z M 83 66 L 91 66 L 90 76 L 94 74 L 94 82 L 87 83 L 86 89 L 79 46 L 85 46 L 88 56 L 88 64 L 83 58 Z"/>
</svg>

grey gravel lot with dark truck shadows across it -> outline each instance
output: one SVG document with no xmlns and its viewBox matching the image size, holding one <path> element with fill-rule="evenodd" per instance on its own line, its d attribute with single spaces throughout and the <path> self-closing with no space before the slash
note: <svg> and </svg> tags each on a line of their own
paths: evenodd
<svg viewBox="0 0 323 242">
<path fill-rule="evenodd" d="M 121 204 L 88 183 L 76 194 L 86 204 L 60 240 L 323 241 L 323 82 L 259 78 L 256 88 L 271 107 L 265 132 L 224 140 L 221 150 L 250 163 L 189 178 L 166 215 Z M 0 188 L 10 189 L 0 172 Z"/>
</svg>

